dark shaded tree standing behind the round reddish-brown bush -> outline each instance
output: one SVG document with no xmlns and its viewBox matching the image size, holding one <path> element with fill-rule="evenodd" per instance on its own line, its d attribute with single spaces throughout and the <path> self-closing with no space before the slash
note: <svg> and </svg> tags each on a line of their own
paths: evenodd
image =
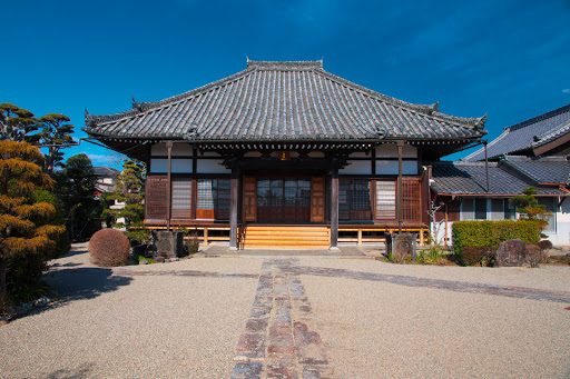
<svg viewBox="0 0 570 379">
<path fill-rule="evenodd" d="M 56 171 L 57 172 L 57 171 Z M 99 201 L 95 198 L 94 166 L 85 153 L 69 157 L 56 176 L 58 195 L 66 205 L 72 241 L 83 241 L 100 228 Z"/>
</svg>

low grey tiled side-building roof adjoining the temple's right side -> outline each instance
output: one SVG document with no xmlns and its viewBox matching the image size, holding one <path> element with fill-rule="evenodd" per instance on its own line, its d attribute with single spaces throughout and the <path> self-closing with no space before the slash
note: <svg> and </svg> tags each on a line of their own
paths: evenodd
<svg viewBox="0 0 570 379">
<path fill-rule="evenodd" d="M 434 162 L 432 167 L 431 188 L 440 195 L 515 196 L 533 186 L 531 181 L 504 171 L 497 162 L 489 162 L 489 191 L 483 162 Z M 568 195 L 557 188 L 537 190 L 538 195 Z"/>
</svg>

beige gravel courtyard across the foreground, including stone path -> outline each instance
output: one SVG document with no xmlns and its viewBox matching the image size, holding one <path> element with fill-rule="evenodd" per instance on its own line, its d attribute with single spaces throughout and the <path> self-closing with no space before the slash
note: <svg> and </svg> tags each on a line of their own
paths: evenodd
<svg viewBox="0 0 570 379">
<path fill-rule="evenodd" d="M 570 267 L 299 256 L 114 270 L 0 327 L 0 378 L 569 378 Z"/>
</svg>

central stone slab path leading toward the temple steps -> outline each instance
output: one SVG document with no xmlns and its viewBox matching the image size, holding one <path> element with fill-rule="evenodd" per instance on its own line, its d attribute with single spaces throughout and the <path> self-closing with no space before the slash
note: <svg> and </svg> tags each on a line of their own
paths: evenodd
<svg viewBox="0 0 570 379">
<path fill-rule="evenodd" d="M 312 308 L 295 266 L 296 259 L 265 259 L 233 379 L 332 378 L 321 337 L 309 327 Z"/>
</svg>

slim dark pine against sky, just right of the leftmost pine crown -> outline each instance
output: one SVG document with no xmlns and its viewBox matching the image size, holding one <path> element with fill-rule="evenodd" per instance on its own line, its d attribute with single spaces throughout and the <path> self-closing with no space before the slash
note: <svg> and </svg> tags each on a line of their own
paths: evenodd
<svg viewBox="0 0 570 379">
<path fill-rule="evenodd" d="M 63 153 L 61 149 L 73 143 L 71 133 L 73 126 L 69 122 L 69 117 L 60 113 L 49 113 L 39 120 L 40 132 L 37 138 L 39 144 L 47 144 L 48 153 L 46 154 L 46 171 L 53 173 L 56 167 L 62 167 Z"/>
</svg>

